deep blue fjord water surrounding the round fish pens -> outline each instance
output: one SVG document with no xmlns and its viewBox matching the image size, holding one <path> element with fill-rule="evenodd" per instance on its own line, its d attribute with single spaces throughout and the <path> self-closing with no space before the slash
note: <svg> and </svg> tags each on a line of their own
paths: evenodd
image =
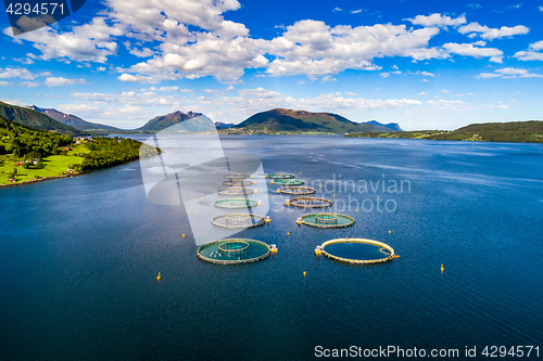
<svg viewBox="0 0 543 361">
<path fill-rule="evenodd" d="M 318 345 L 457 348 L 463 359 L 466 346 L 543 347 L 543 145 L 222 141 L 260 156 L 266 172 L 334 179 L 316 195 L 355 224 L 298 227 L 304 211 L 287 211 L 288 196 L 269 185 L 272 223 L 240 236 L 279 253 L 225 267 L 197 258 L 182 207 L 147 201 L 138 163 L 2 189 L 0 360 L 312 360 Z M 345 192 L 343 180 L 368 192 Z M 403 180 L 404 192 L 374 193 L 370 181 L 383 180 Z M 395 210 L 378 211 L 377 196 Z M 401 257 L 351 266 L 315 256 L 342 236 Z"/>
</svg>

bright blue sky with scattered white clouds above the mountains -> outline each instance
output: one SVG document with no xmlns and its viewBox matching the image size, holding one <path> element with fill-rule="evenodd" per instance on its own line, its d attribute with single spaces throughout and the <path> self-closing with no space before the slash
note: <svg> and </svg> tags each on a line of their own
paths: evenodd
<svg viewBox="0 0 543 361">
<path fill-rule="evenodd" d="M 87 1 L 17 37 L 0 21 L 0 100 L 121 128 L 178 109 L 408 130 L 543 118 L 543 1 Z"/>
</svg>

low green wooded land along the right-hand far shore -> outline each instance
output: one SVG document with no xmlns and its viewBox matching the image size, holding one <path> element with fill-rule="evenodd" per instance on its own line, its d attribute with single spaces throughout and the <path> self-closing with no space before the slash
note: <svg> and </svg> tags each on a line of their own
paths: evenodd
<svg viewBox="0 0 543 361">
<path fill-rule="evenodd" d="M 359 132 L 344 137 L 401 138 L 472 142 L 543 143 L 543 121 L 509 121 L 472 124 L 456 130 L 416 130 L 401 132 Z"/>
</svg>

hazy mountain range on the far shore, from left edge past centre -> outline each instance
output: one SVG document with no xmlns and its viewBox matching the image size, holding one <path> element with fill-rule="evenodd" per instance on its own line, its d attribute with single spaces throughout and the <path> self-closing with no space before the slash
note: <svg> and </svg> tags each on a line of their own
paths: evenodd
<svg viewBox="0 0 543 361">
<path fill-rule="evenodd" d="M 0 102 L 0 116 L 25 126 L 40 129 L 58 131 L 65 134 L 84 133 L 154 133 L 168 132 L 200 132 L 209 131 L 213 128 L 228 130 L 232 132 L 391 132 L 402 131 L 395 123 L 388 125 L 377 120 L 368 123 L 355 123 L 333 113 L 312 113 L 306 111 L 293 111 L 275 108 L 267 112 L 257 113 L 239 125 L 213 123 L 209 117 L 195 112 L 173 112 L 166 115 L 156 116 L 140 128 L 127 130 L 98 123 L 90 123 L 80 117 L 60 112 L 54 108 L 43 108 L 36 105 L 21 107 Z M 186 120 L 192 120 L 186 123 Z M 228 131 L 230 132 L 230 131 Z"/>
</svg>

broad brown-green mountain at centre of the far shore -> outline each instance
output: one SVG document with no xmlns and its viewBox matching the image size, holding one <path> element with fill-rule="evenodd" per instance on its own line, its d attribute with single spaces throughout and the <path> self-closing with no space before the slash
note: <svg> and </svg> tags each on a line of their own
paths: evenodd
<svg viewBox="0 0 543 361">
<path fill-rule="evenodd" d="M 333 113 L 312 113 L 276 108 L 257 113 L 229 129 L 267 132 L 330 132 L 374 131 L 371 125 L 351 121 Z"/>
</svg>

